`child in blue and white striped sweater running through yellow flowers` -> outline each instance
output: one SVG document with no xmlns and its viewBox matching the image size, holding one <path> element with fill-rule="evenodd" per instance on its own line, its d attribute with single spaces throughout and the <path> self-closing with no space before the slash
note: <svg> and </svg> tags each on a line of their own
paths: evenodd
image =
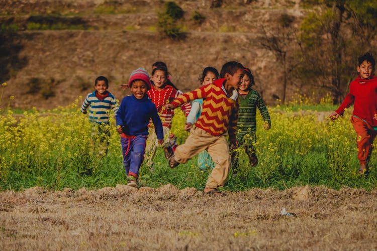
<svg viewBox="0 0 377 251">
<path fill-rule="evenodd" d="M 92 137 L 100 135 L 99 156 L 106 155 L 109 147 L 110 122 L 109 111 L 117 112 L 119 106 L 114 95 L 109 91 L 109 80 L 104 76 L 99 76 L 95 80 L 95 90 L 86 95 L 81 104 L 81 112 L 86 114 L 89 107 L 89 120 L 93 123 L 91 129 Z"/>
</svg>

